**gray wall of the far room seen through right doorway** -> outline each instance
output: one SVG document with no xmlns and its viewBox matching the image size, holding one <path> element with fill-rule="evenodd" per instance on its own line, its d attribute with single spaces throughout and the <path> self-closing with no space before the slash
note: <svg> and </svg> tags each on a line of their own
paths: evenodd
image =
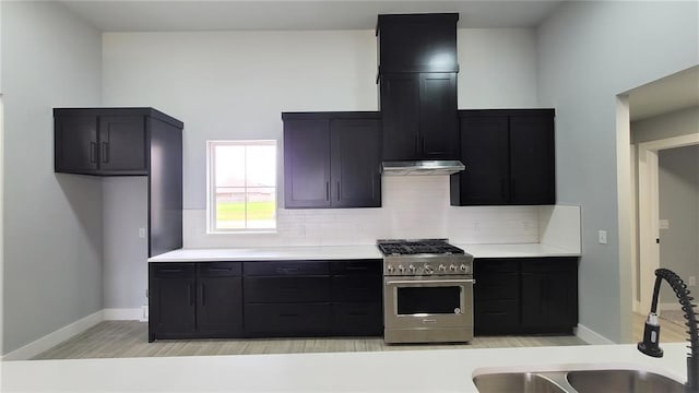
<svg viewBox="0 0 699 393">
<path fill-rule="evenodd" d="M 657 152 L 657 167 L 660 218 L 670 223 L 660 229 L 660 265 L 687 282 L 699 276 L 699 145 Z M 668 285 L 663 286 L 660 301 L 676 305 Z"/>
</svg>

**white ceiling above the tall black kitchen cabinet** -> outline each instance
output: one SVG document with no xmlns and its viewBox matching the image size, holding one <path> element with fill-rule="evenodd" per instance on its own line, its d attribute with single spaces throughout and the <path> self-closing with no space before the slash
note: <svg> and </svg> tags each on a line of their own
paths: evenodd
<svg viewBox="0 0 699 393">
<path fill-rule="evenodd" d="M 459 27 L 533 27 L 562 1 L 61 0 L 104 32 L 365 29 L 381 13 L 458 12 Z"/>
</svg>

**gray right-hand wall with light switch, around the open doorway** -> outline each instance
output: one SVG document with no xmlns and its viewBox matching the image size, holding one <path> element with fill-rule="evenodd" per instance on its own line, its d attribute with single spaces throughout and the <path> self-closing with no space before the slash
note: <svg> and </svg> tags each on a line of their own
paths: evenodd
<svg viewBox="0 0 699 393">
<path fill-rule="evenodd" d="M 538 28 L 540 105 L 556 108 L 558 202 L 582 205 L 580 323 L 614 342 L 630 332 L 609 315 L 631 309 L 618 250 L 615 97 L 699 63 L 698 14 L 696 2 L 573 1 Z"/>
</svg>

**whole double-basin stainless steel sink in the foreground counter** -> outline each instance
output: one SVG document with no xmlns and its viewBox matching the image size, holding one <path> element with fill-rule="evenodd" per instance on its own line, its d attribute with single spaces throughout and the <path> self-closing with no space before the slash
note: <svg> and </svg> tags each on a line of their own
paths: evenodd
<svg viewBox="0 0 699 393">
<path fill-rule="evenodd" d="M 488 372 L 473 378 L 481 393 L 684 393 L 685 385 L 643 370 Z"/>
</svg>

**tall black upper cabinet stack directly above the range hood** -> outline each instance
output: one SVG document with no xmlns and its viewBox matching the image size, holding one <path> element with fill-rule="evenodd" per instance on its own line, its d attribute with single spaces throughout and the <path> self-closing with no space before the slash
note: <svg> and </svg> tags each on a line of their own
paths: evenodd
<svg viewBox="0 0 699 393">
<path fill-rule="evenodd" d="M 457 159 L 459 14 L 379 15 L 384 160 Z"/>
</svg>

